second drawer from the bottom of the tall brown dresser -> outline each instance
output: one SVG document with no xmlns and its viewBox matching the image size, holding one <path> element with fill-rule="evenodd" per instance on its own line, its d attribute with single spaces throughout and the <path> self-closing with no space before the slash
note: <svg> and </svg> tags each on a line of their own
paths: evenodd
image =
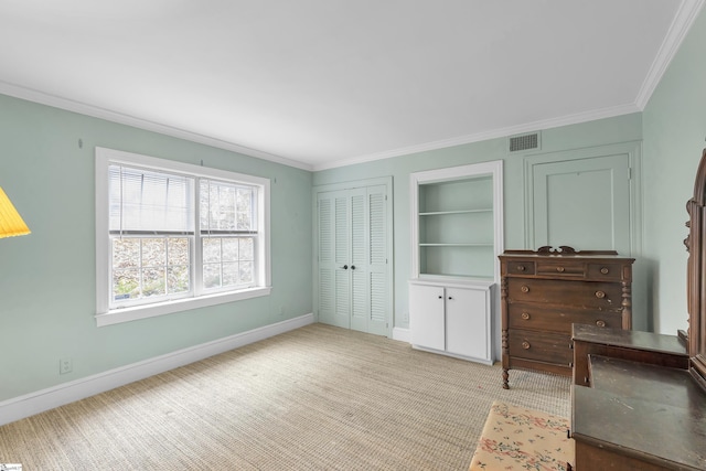
<svg viewBox="0 0 706 471">
<path fill-rule="evenodd" d="M 622 329 L 622 313 L 591 311 L 576 308 L 545 308 L 537 304 L 513 303 L 509 307 L 511 329 L 571 333 L 571 324 L 590 324 Z"/>
</svg>

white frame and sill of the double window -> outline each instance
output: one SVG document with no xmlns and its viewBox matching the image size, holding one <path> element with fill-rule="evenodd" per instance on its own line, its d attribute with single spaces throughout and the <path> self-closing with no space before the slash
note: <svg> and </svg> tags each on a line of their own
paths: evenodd
<svg viewBox="0 0 706 471">
<path fill-rule="evenodd" d="M 268 296 L 271 291 L 270 268 L 270 180 L 227 170 L 194 165 L 191 163 L 125 152 L 115 149 L 96 147 L 96 323 L 98 327 L 170 314 L 191 309 L 222 304 L 243 299 Z M 110 233 L 108 213 L 108 167 L 110 164 L 135 165 L 148 170 L 180 173 L 193 178 L 221 180 L 256 186 L 257 191 L 257 243 L 256 250 L 256 286 L 247 289 L 199 293 L 196 287 L 193 296 L 188 298 L 138 304 L 118 309 L 109 308 L 110 297 Z M 197 186 L 197 182 L 196 185 Z M 197 194 L 197 190 L 196 190 Z M 196 199 L 197 200 L 197 199 Z M 195 212 L 195 217 L 199 212 Z M 200 221 L 195 220 L 195 232 L 200 233 Z M 202 270 L 200 238 L 194 244 L 195 272 Z M 196 254 L 197 253 L 197 254 Z M 196 275 L 196 278 L 201 278 Z M 199 281 L 201 282 L 201 281 Z"/>
</svg>

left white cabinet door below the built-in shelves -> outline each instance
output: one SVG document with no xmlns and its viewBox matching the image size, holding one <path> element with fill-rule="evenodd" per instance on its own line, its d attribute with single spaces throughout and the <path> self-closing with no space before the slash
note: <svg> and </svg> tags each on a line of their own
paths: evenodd
<svg viewBox="0 0 706 471">
<path fill-rule="evenodd" d="M 409 286 L 409 327 L 411 344 L 434 350 L 446 349 L 443 287 Z"/>
</svg>

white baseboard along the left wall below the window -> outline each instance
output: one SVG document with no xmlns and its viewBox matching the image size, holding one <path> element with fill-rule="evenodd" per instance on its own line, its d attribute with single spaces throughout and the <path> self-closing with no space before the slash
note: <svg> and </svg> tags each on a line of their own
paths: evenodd
<svg viewBox="0 0 706 471">
<path fill-rule="evenodd" d="M 314 322 L 312 313 L 0 402 L 0 426 Z"/>
</svg>

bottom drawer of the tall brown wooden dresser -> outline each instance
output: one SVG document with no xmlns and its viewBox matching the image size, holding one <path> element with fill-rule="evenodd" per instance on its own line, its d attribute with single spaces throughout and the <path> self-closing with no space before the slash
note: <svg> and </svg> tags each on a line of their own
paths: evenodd
<svg viewBox="0 0 706 471">
<path fill-rule="evenodd" d="M 574 358 L 570 335 L 511 330 L 509 341 L 511 356 L 566 366 Z"/>
</svg>

